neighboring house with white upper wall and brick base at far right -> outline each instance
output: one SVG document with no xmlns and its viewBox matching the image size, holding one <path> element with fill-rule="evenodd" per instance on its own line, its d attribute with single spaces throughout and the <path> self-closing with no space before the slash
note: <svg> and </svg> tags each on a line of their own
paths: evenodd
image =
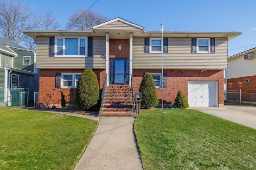
<svg viewBox="0 0 256 170">
<path fill-rule="evenodd" d="M 228 58 L 227 90 L 228 101 L 256 102 L 256 48 L 238 53 Z M 239 92 L 238 92 L 239 91 Z"/>
</svg>

